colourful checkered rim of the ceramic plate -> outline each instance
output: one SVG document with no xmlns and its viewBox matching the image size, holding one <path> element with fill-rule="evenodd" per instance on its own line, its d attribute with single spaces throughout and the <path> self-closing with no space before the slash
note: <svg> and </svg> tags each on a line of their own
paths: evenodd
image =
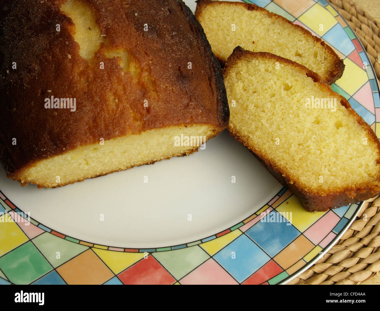
<svg viewBox="0 0 380 311">
<path fill-rule="evenodd" d="M 332 89 L 347 98 L 379 137 L 380 98 L 374 70 L 344 19 L 324 0 L 252 3 L 307 28 L 344 59 L 344 75 Z M 164 248 L 131 249 L 81 241 L 34 219 L 25 222 L 16 217 L 25 216 L 22 207 L 1 192 L 0 204 L 4 214 L 0 284 L 286 283 L 334 245 L 361 207 L 352 204 L 308 213 L 283 188 L 250 217 L 210 237 Z M 293 215 L 291 222 L 287 215 Z"/>
</svg>

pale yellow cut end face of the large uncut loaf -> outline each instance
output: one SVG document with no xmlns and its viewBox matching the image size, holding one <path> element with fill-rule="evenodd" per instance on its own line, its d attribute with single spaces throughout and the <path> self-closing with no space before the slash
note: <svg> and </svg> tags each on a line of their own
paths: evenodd
<svg viewBox="0 0 380 311">
<path fill-rule="evenodd" d="M 209 125 L 169 126 L 100 141 L 33 163 L 8 177 L 21 185 L 56 188 L 173 156 L 197 152 L 219 130 Z"/>
</svg>

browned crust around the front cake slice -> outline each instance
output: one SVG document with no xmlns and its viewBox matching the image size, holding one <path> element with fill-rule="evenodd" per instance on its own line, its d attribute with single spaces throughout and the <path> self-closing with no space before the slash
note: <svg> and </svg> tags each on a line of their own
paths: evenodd
<svg viewBox="0 0 380 311">
<path fill-rule="evenodd" d="M 321 82 L 320 76 L 318 76 L 317 73 L 310 71 L 305 66 L 271 53 L 246 51 L 240 46 L 236 47 L 230 57 L 228 57 L 226 66 L 223 68 L 223 76 L 226 76 L 228 74 L 228 71 L 230 68 L 232 68 L 234 62 L 237 62 L 244 58 L 249 58 L 251 55 L 255 54 L 263 55 L 264 57 L 272 58 L 281 63 L 287 63 L 291 66 L 297 66 L 304 70 L 305 74 L 308 77 L 311 77 L 314 82 Z M 325 88 L 326 93 L 333 94 L 329 85 L 324 83 L 321 85 Z M 369 140 L 374 141 L 377 147 L 380 149 L 380 142 L 374 131 L 372 131 L 370 126 L 363 120 L 363 118 L 358 115 L 354 109 L 351 108 L 351 105 L 347 99 L 342 97 L 340 103 L 347 109 L 350 115 L 355 117 L 356 121 L 363 127 L 367 133 Z M 247 139 L 239 136 L 239 134 L 233 131 L 230 126 L 228 127 L 228 130 L 237 141 L 239 141 L 245 147 L 249 148 L 250 143 Z M 343 188 L 337 185 L 335 191 L 329 193 L 310 193 L 302 189 L 302 187 L 298 185 L 297 181 L 291 181 L 290 183 L 289 178 L 286 177 L 286 172 L 277 166 L 276 163 L 262 154 L 260 150 L 253 151 L 250 148 L 249 150 L 281 185 L 288 187 L 299 198 L 301 204 L 308 212 L 323 212 L 331 208 L 337 208 L 340 206 L 367 200 L 380 194 L 380 187 L 378 183 L 373 185 L 352 185 L 351 187 L 347 188 Z M 380 158 L 377 159 L 377 163 L 380 163 Z M 380 180 L 380 176 L 377 177 L 377 180 Z"/>
</svg>

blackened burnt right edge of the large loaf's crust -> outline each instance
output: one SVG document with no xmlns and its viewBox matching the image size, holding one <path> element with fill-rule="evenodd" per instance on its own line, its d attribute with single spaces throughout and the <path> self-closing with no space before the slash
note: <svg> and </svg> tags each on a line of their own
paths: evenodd
<svg viewBox="0 0 380 311">
<path fill-rule="evenodd" d="M 212 72 L 215 76 L 215 87 L 217 92 L 217 104 L 218 104 L 218 114 L 217 114 L 217 122 L 218 126 L 226 128 L 228 126 L 228 122 L 230 120 L 230 107 L 228 106 L 227 92 L 226 87 L 224 85 L 222 68 L 220 67 L 220 63 L 215 57 L 214 53 L 211 50 L 211 45 L 206 38 L 206 34 L 204 33 L 203 27 L 195 18 L 193 12 L 188 8 L 187 5 L 182 0 L 177 0 L 178 5 L 180 6 L 182 12 L 184 13 L 187 22 L 190 26 L 192 26 L 192 31 L 194 35 L 199 39 L 199 41 L 205 47 L 204 52 L 208 54 L 211 58 Z"/>
</svg>

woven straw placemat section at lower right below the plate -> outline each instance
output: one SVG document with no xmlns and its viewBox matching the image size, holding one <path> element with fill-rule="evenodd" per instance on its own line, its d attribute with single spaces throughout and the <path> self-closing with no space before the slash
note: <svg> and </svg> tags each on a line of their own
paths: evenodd
<svg viewBox="0 0 380 311">
<path fill-rule="evenodd" d="M 367 200 L 339 242 L 288 284 L 359 284 L 380 271 L 380 197 Z"/>
</svg>

